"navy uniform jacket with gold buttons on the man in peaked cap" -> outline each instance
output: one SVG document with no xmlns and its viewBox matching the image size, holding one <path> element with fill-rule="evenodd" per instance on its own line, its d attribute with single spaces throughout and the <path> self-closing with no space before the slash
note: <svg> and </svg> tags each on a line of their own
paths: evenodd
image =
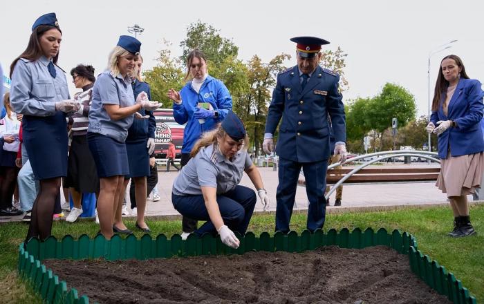
<svg viewBox="0 0 484 304">
<path fill-rule="evenodd" d="M 274 134 L 279 124 L 276 151 L 294 162 L 318 162 L 330 156 L 328 114 L 335 142 L 346 142 L 346 123 L 339 75 L 317 66 L 302 90 L 297 66 L 277 76 L 266 122 L 266 133 Z"/>
</svg>

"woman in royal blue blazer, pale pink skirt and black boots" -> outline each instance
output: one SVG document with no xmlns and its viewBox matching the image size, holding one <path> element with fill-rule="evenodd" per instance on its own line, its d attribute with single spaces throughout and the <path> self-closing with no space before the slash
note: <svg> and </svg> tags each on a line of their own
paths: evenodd
<svg viewBox="0 0 484 304">
<path fill-rule="evenodd" d="M 469 79 L 456 55 L 440 63 L 432 114 L 427 131 L 438 135 L 440 174 L 436 186 L 447 193 L 454 213 L 454 230 L 448 235 L 476 234 L 469 219 L 467 195 L 481 186 L 484 169 L 484 138 L 481 83 Z"/>
</svg>

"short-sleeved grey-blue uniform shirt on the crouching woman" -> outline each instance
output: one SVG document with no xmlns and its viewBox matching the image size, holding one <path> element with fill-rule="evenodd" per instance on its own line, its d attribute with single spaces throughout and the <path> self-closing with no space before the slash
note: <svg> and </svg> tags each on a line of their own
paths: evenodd
<svg viewBox="0 0 484 304">
<path fill-rule="evenodd" d="M 238 151 L 232 161 L 227 160 L 216 144 L 200 149 L 183 167 L 171 190 L 177 196 L 199 196 L 201 187 L 213 187 L 217 194 L 235 188 L 242 179 L 244 169 L 252 166 L 245 149 Z"/>
</svg>

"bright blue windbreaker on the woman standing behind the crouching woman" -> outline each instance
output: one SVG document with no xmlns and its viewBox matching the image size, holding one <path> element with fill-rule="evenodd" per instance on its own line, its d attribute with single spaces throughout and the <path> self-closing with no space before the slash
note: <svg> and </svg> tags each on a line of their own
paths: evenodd
<svg viewBox="0 0 484 304">
<path fill-rule="evenodd" d="M 201 134 L 215 129 L 216 124 L 222 122 L 228 111 L 232 109 L 232 96 L 221 80 L 210 75 L 207 76 L 198 93 L 192 88 L 192 82 L 188 82 L 181 89 L 180 96 L 182 104 L 173 104 L 173 115 L 178 124 L 187 123 L 183 131 L 181 153 L 190 153 Z M 212 108 L 218 111 L 218 118 L 207 118 L 203 124 L 198 122 L 193 115 L 198 102 L 210 102 Z"/>
</svg>

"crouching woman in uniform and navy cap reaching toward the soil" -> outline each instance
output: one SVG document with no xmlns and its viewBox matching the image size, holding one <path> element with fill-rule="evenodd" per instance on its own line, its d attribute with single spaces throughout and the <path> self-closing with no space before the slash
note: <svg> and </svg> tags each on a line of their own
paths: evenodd
<svg viewBox="0 0 484 304">
<path fill-rule="evenodd" d="M 257 197 L 239 185 L 245 171 L 268 209 L 261 174 L 247 153 L 249 139 L 232 111 L 216 129 L 204 133 L 192 150 L 192 159 L 176 177 L 171 200 L 183 216 L 206 220 L 195 234 L 216 234 L 232 248 L 240 245 L 233 231 L 245 234 Z"/>
</svg>

